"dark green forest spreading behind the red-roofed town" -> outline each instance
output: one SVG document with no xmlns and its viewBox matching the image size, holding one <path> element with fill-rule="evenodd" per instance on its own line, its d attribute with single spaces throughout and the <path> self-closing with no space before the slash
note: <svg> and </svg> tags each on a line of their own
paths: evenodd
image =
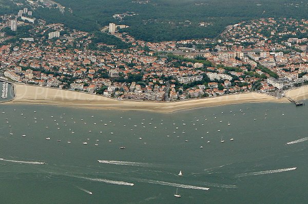
<svg viewBox="0 0 308 204">
<path fill-rule="evenodd" d="M 308 13 L 308 4 L 302 0 L 151 0 L 147 4 L 131 0 L 56 2 L 66 7 L 63 14 L 57 8 L 40 8 L 33 12 L 34 17 L 88 32 L 109 23 L 124 24 L 129 28 L 120 32 L 148 42 L 216 38 L 226 26 L 241 21 L 263 17 L 301 19 L 307 18 Z M 134 15 L 121 19 L 112 17 L 127 12 L 134 12 Z"/>
</svg>

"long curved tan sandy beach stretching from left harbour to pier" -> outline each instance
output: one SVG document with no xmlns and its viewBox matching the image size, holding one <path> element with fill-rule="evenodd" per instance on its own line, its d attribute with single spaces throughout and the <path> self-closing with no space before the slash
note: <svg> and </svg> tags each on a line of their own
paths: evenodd
<svg viewBox="0 0 308 204">
<path fill-rule="evenodd" d="M 308 87 L 306 88 L 308 90 Z M 75 107 L 75 108 L 88 108 L 88 109 L 142 110 L 149 112 L 172 113 L 178 110 L 220 106 L 227 104 L 258 103 L 258 102 L 288 102 L 287 99 L 285 98 L 275 99 L 267 95 L 257 94 L 252 92 L 246 94 L 226 95 L 215 98 L 162 103 L 162 102 L 142 102 L 142 101 L 120 101 L 116 99 L 110 99 L 82 92 L 39 87 L 39 86 L 29 86 L 23 84 L 15 84 L 15 91 L 16 91 L 15 99 L 5 104 L 43 104 L 43 105 L 55 105 L 61 107 Z M 290 91 L 290 94 L 292 94 L 293 96 L 293 92 Z"/>
</svg>

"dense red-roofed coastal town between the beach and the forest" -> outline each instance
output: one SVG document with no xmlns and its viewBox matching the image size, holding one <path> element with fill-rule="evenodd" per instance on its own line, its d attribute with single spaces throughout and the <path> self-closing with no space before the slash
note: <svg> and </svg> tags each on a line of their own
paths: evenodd
<svg viewBox="0 0 308 204">
<path fill-rule="evenodd" d="M 88 33 L 47 24 L 30 8 L 1 18 L 0 74 L 16 83 L 178 101 L 249 91 L 279 98 L 308 81 L 304 19 L 261 18 L 230 25 L 216 39 L 152 43 L 134 39 L 126 25 Z"/>
</svg>

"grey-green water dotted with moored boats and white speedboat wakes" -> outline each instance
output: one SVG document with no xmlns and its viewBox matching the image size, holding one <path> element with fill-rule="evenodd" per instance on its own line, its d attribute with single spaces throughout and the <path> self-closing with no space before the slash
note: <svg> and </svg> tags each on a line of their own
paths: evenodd
<svg viewBox="0 0 308 204">
<path fill-rule="evenodd" d="M 308 201 L 308 141 L 286 144 L 307 137 L 305 106 L 238 104 L 158 114 L 1 105 L 0 112 L 1 203 Z M 174 196 L 177 188 L 181 198 Z"/>
</svg>

